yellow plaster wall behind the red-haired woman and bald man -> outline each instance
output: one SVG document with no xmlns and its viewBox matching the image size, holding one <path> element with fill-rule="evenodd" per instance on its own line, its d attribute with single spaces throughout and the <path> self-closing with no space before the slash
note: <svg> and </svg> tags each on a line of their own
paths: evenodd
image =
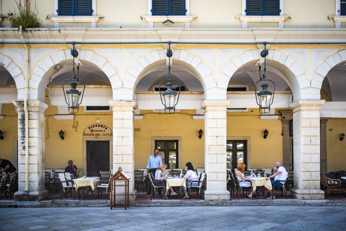
<svg viewBox="0 0 346 231">
<path fill-rule="evenodd" d="M 283 160 L 281 117 L 261 120 L 260 115 L 258 108 L 250 108 L 249 112 L 227 112 L 227 137 L 251 137 L 251 168 L 272 168 L 275 161 Z M 263 138 L 265 129 L 269 131 L 266 139 Z"/>
</svg>

